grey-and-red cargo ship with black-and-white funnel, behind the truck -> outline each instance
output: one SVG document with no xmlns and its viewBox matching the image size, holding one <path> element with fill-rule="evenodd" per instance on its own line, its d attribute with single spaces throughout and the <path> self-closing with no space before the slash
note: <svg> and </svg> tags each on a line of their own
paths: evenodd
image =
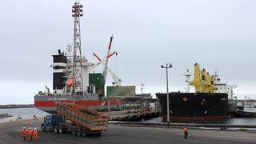
<svg viewBox="0 0 256 144">
<path fill-rule="evenodd" d="M 92 63 L 82 56 L 81 48 L 81 28 L 80 18 L 82 18 L 82 4 L 74 2 L 72 6 L 72 17 L 74 18 L 74 44 L 67 46 L 67 51 L 58 50 L 53 56 L 53 92 L 46 86 L 46 90 L 39 91 L 34 95 L 34 106 L 38 110 L 46 111 L 50 114 L 56 113 L 56 104 L 58 102 L 69 103 L 86 106 L 94 110 L 110 110 L 128 107 L 143 106 L 142 97 L 135 96 L 135 86 L 120 86 L 121 79 L 107 67 L 108 60 L 116 52 L 110 53 L 113 35 L 110 37 L 106 58 L 99 58 L 98 63 Z M 72 50 L 73 49 L 73 50 Z M 103 66 L 102 73 L 94 73 L 94 68 L 98 65 Z M 120 96 L 114 92 L 110 96 L 105 97 L 105 83 L 107 72 L 114 78 L 116 86 L 110 86 L 110 90 L 121 90 L 126 98 L 118 98 Z M 126 89 L 126 90 L 123 90 Z M 125 92 L 124 92 L 125 91 Z M 112 94 L 112 95 L 111 95 Z"/>
</svg>

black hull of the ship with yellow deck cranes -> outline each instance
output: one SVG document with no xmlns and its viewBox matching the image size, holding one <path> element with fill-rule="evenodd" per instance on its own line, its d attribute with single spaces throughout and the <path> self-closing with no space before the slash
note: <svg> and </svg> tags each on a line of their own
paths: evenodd
<svg viewBox="0 0 256 144">
<path fill-rule="evenodd" d="M 166 122 L 166 94 L 156 94 Z M 170 121 L 203 121 L 229 118 L 227 94 L 170 93 Z"/>
</svg>

